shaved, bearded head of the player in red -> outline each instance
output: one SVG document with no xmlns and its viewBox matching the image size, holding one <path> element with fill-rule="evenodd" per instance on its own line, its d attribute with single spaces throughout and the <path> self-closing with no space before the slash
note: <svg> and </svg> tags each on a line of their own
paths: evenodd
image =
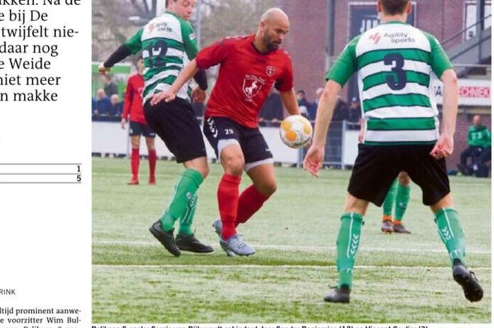
<svg viewBox="0 0 494 328">
<path fill-rule="evenodd" d="M 261 50 L 273 51 L 282 44 L 290 29 L 288 16 L 280 8 L 267 9 L 260 17 L 259 30 L 256 33 Z M 258 44 L 259 45 L 259 44 Z"/>
</svg>

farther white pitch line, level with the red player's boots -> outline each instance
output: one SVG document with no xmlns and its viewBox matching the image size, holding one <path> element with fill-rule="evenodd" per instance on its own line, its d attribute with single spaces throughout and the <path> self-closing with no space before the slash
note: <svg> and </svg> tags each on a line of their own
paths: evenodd
<svg viewBox="0 0 494 328">
<path fill-rule="evenodd" d="M 157 245 L 154 241 L 93 241 L 94 245 Z M 253 248 L 258 248 L 260 250 L 336 250 L 336 247 L 330 246 L 300 246 L 300 245 L 252 245 Z M 423 249 L 420 248 L 402 248 L 402 249 L 390 249 L 390 248 L 359 248 L 359 250 L 364 252 L 396 252 L 396 253 L 445 253 L 445 249 Z M 466 250 L 467 254 L 490 254 L 488 250 Z"/>
</svg>

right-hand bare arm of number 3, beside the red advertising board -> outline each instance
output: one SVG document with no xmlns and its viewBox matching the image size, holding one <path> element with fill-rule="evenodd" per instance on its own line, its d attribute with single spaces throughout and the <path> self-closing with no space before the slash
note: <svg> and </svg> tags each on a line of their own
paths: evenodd
<svg viewBox="0 0 494 328">
<path fill-rule="evenodd" d="M 435 159 L 450 157 L 454 148 L 454 130 L 458 111 L 458 80 L 454 70 L 447 69 L 440 80 L 444 83 L 441 133 L 430 155 Z"/>
</svg>

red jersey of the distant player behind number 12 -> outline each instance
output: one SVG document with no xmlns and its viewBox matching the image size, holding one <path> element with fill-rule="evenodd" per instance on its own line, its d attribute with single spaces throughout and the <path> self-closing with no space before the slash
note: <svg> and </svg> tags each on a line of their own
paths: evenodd
<svg viewBox="0 0 494 328">
<path fill-rule="evenodd" d="M 125 99 L 123 99 L 122 119 L 127 119 L 130 112 L 129 121 L 147 124 L 143 111 L 143 91 L 143 75 L 135 74 L 128 78 Z"/>
</svg>

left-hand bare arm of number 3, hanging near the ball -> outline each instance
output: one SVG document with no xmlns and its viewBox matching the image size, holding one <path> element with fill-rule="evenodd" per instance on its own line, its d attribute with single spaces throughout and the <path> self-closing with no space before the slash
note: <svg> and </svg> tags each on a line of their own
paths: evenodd
<svg viewBox="0 0 494 328">
<path fill-rule="evenodd" d="M 313 142 L 306 154 L 306 158 L 303 159 L 303 168 L 313 176 L 318 176 L 319 169 L 323 167 L 327 128 L 330 125 L 333 111 L 335 110 L 337 95 L 341 90 L 341 85 L 333 80 L 328 80 L 323 95 L 321 95 L 319 100 L 318 110 L 315 116 Z"/>
</svg>

